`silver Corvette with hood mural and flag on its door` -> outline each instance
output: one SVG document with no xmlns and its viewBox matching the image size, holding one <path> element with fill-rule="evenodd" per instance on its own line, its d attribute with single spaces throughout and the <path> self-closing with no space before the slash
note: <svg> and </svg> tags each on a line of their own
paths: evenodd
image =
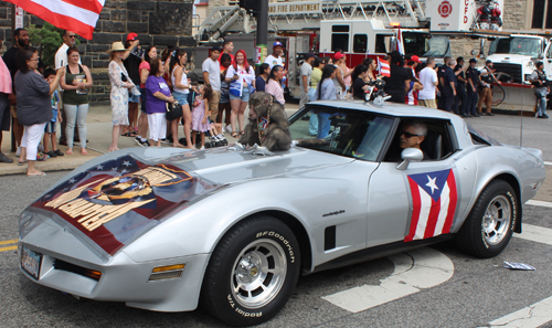
<svg viewBox="0 0 552 328">
<path fill-rule="evenodd" d="M 23 274 L 149 310 L 201 303 L 251 326 L 285 306 L 299 274 L 447 239 L 496 256 L 544 180 L 540 150 L 442 110 L 316 102 L 290 121 L 287 151 L 134 148 L 87 162 L 22 213 Z M 416 123 L 420 149 L 402 147 Z"/>
</svg>

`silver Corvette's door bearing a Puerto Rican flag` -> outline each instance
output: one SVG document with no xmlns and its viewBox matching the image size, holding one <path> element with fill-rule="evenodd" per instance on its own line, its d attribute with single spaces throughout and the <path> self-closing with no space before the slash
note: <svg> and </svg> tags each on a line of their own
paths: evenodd
<svg viewBox="0 0 552 328">
<path fill-rule="evenodd" d="M 381 162 L 371 174 L 367 246 L 445 234 L 466 213 L 476 174 L 476 159 L 454 145 L 454 129 L 443 123 L 449 149 L 434 160 Z"/>
</svg>

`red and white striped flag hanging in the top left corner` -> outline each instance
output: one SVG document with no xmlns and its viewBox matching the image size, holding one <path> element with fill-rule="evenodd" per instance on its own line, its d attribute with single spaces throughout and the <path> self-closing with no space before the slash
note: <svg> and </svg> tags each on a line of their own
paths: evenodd
<svg viewBox="0 0 552 328">
<path fill-rule="evenodd" d="M 53 25 L 91 40 L 105 0 L 6 0 Z"/>
</svg>

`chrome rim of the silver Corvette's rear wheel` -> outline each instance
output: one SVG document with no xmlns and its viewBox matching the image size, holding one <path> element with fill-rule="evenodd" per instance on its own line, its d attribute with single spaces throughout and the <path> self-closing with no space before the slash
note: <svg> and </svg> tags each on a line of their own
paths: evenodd
<svg viewBox="0 0 552 328">
<path fill-rule="evenodd" d="M 505 239 L 511 223 L 511 212 L 510 202 L 505 195 L 497 195 L 490 201 L 481 224 L 487 244 L 496 245 Z"/>
</svg>

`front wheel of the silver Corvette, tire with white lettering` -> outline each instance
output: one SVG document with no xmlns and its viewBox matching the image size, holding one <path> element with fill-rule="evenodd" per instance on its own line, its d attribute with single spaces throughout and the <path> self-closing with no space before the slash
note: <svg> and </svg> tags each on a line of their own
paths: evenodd
<svg viewBox="0 0 552 328">
<path fill-rule="evenodd" d="M 286 305 L 299 273 L 299 244 L 291 230 L 272 216 L 256 215 L 237 223 L 216 245 L 201 305 L 229 325 L 258 325 Z"/>
</svg>

